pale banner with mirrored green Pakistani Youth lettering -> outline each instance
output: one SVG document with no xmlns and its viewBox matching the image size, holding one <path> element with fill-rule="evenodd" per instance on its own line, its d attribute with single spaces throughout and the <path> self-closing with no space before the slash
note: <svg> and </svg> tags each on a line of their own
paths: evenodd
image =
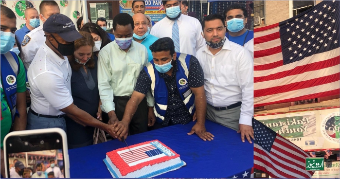
<svg viewBox="0 0 340 179">
<path fill-rule="evenodd" d="M 339 148 L 339 108 L 254 118 L 303 150 Z"/>
</svg>

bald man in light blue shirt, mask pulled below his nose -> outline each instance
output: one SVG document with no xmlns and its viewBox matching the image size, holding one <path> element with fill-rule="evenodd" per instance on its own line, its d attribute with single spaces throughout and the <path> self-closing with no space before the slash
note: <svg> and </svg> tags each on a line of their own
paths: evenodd
<svg viewBox="0 0 340 179">
<path fill-rule="evenodd" d="M 133 40 L 141 43 L 146 47 L 148 54 L 148 61 L 152 60 L 152 53 L 149 49 L 150 45 L 152 45 L 158 38 L 156 36 L 152 36 L 147 32 L 147 27 L 149 20 L 142 13 L 137 13 L 132 16 L 133 22 L 135 24 L 135 28 L 133 29 Z"/>
</svg>

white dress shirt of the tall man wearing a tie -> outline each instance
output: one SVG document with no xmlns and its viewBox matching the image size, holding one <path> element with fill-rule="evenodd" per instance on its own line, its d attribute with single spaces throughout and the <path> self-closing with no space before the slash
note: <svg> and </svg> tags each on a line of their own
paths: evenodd
<svg viewBox="0 0 340 179">
<path fill-rule="evenodd" d="M 174 23 L 174 20 L 165 17 L 152 27 L 150 34 L 158 38 L 166 36 L 172 38 L 172 26 Z M 197 18 L 186 15 L 180 15 L 177 19 L 177 24 L 179 27 L 180 53 L 196 56 L 197 50 L 205 44 L 205 40 L 201 35 L 201 24 Z"/>
</svg>

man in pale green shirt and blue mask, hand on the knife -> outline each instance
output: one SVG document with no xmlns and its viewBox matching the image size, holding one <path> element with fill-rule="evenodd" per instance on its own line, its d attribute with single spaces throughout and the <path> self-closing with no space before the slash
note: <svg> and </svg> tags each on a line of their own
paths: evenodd
<svg viewBox="0 0 340 179">
<path fill-rule="evenodd" d="M 132 40 L 134 21 L 129 14 L 120 13 L 114 17 L 112 28 L 115 40 L 103 47 L 98 56 L 98 89 L 103 104 L 101 108 L 109 117 L 108 124 L 115 126 L 123 124 L 126 103 L 139 73 L 148 63 L 148 54 L 142 44 Z M 146 132 L 148 117 L 156 120 L 153 106 L 154 100 L 149 93 L 138 106 L 130 125 L 126 126 L 130 135 Z"/>
</svg>

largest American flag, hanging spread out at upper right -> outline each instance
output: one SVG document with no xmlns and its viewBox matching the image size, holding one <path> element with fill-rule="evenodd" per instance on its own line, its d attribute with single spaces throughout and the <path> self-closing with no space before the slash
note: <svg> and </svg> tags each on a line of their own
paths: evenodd
<svg viewBox="0 0 340 179">
<path fill-rule="evenodd" d="M 337 95 L 340 1 L 254 29 L 254 107 Z"/>
</svg>

